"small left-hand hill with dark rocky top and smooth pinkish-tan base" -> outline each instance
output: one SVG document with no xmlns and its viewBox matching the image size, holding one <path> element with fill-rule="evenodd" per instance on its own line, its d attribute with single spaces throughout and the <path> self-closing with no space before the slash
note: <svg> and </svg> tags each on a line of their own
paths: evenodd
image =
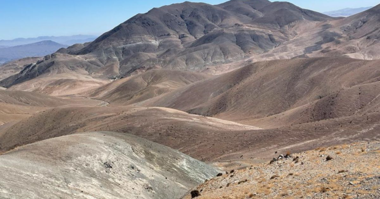
<svg viewBox="0 0 380 199">
<path fill-rule="evenodd" d="M 85 57 L 52 54 L 27 65 L 20 73 L 0 81 L 0 84 L 6 88 L 13 86 L 9 90 L 36 91 L 53 96 L 78 94 L 109 83 L 104 77 L 91 76 L 101 65 Z"/>
</svg>

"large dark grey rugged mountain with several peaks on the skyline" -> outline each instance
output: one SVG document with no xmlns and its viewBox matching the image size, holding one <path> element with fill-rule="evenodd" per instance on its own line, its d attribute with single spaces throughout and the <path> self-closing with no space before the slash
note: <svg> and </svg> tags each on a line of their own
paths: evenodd
<svg viewBox="0 0 380 199">
<path fill-rule="evenodd" d="M 242 6 L 255 14 L 239 13 L 237 10 Z M 299 24 L 315 25 L 334 19 L 285 2 L 233 0 L 221 5 L 185 2 L 138 14 L 87 46 L 59 53 L 65 54 L 71 63 L 87 65 L 83 69 L 88 75 L 99 78 L 126 76 L 152 67 L 199 72 L 209 66 L 269 52 L 296 37 Z M 59 56 L 36 64 L 35 68 L 41 68 L 38 75 L 49 74 L 50 67 L 67 72 L 63 66 L 67 61 Z M 71 65 L 69 70 L 79 68 L 82 69 Z M 9 87 L 35 77 L 33 71 L 24 71 L 0 85 Z"/>
</svg>

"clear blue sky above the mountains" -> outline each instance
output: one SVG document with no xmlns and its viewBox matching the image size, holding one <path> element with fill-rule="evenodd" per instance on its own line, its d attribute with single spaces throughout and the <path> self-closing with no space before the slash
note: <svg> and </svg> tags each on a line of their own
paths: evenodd
<svg viewBox="0 0 380 199">
<path fill-rule="evenodd" d="M 0 0 L 0 40 L 100 35 L 137 13 L 185 0 Z M 227 0 L 193 0 L 218 4 Z M 374 6 L 378 0 L 288 0 L 319 12 Z"/>
</svg>

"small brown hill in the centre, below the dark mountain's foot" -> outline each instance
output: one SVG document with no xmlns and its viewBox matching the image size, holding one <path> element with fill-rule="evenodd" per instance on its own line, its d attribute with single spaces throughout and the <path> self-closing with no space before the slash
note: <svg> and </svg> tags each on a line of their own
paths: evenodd
<svg viewBox="0 0 380 199">
<path fill-rule="evenodd" d="M 86 96 L 106 102 L 130 105 L 174 91 L 182 86 L 211 76 L 202 73 L 176 70 L 149 70 L 145 73 L 114 81 Z"/>
</svg>

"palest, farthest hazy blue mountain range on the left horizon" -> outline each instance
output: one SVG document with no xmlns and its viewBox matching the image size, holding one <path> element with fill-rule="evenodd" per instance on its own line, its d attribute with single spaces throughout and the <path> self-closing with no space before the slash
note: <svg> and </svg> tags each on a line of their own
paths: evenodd
<svg viewBox="0 0 380 199">
<path fill-rule="evenodd" d="M 19 45 L 25 45 L 25 44 L 31 44 L 36 43 L 40 41 L 54 41 L 56 43 L 60 43 L 63 45 L 71 46 L 76 43 L 86 43 L 93 41 L 97 38 L 97 36 L 94 35 L 73 35 L 73 36 L 60 36 L 60 37 L 49 37 L 49 36 L 43 36 L 43 37 L 35 37 L 35 38 L 16 38 L 13 40 L 0 40 L 0 48 L 3 48 L 2 46 L 19 46 Z"/>
</svg>

